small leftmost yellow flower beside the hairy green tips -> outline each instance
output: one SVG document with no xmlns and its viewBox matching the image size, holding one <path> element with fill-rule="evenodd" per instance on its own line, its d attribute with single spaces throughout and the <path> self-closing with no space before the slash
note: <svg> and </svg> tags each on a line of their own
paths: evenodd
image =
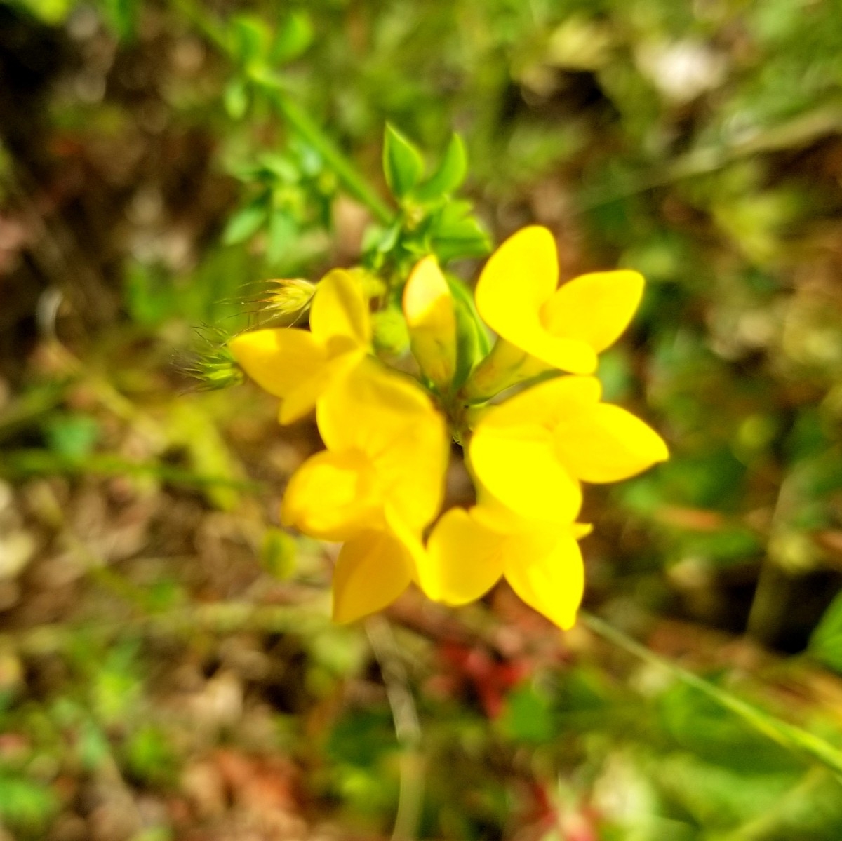
<svg viewBox="0 0 842 841">
<path fill-rule="evenodd" d="M 370 341 L 368 303 L 360 284 L 335 269 L 312 297 L 309 331 L 253 330 L 232 338 L 228 347 L 258 386 L 280 397 L 280 423 L 292 423 L 360 364 Z"/>
</svg>

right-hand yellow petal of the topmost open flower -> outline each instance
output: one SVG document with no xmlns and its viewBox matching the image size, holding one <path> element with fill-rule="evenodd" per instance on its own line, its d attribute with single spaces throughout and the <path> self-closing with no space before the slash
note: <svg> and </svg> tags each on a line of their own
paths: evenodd
<svg viewBox="0 0 842 841">
<path fill-rule="evenodd" d="M 643 277 L 637 272 L 583 274 L 557 290 L 541 319 L 553 336 L 578 339 L 600 353 L 628 327 L 642 295 Z"/>
</svg>

